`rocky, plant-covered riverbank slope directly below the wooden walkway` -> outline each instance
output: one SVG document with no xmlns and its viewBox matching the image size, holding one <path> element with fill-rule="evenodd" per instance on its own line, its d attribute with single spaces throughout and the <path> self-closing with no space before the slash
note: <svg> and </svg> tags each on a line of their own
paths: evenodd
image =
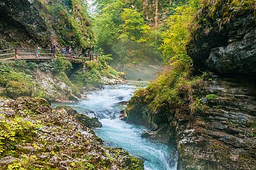
<svg viewBox="0 0 256 170">
<path fill-rule="evenodd" d="M 105 84 L 124 83 L 124 74 L 105 60 L 71 64 L 64 59 L 46 62 L 13 61 L 0 64 L 0 96 L 30 96 L 50 102 L 70 102 L 86 98 L 89 91 Z"/>
</svg>

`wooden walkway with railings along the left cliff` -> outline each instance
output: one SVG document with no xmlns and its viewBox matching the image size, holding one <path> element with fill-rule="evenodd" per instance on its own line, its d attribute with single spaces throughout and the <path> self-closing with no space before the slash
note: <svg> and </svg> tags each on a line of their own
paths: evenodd
<svg viewBox="0 0 256 170">
<path fill-rule="evenodd" d="M 54 54 L 50 53 L 50 50 L 40 50 L 37 53 L 36 49 L 30 48 L 9 48 L 6 50 L 0 50 L 0 62 L 10 61 L 10 60 L 31 60 L 31 61 L 47 61 L 55 60 L 56 56 L 62 57 L 73 63 L 83 63 L 83 62 L 98 62 L 99 55 L 89 52 L 89 54 L 73 54 L 69 56 L 68 54 L 62 54 L 62 51 L 55 50 Z"/>
</svg>

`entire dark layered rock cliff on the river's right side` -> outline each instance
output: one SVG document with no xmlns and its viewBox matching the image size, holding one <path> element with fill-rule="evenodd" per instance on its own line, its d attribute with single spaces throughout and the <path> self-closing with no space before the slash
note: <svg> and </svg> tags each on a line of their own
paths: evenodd
<svg viewBox="0 0 256 170">
<path fill-rule="evenodd" d="M 198 12 L 188 54 L 194 72 L 210 74 L 171 84 L 176 96 L 157 108 L 152 86 L 129 101 L 127 122 L 175 144 L 178 169 L 256 169 L 255 2 L 239 2 L 204 1 Z"/>
</svg>

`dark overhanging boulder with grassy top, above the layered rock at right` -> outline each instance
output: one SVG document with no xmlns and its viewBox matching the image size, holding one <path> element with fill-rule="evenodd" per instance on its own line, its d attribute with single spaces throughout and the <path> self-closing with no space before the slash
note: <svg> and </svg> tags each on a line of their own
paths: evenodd
<svg viewBox="0 0 256 170">
<path fill-rule="evenodd" d="M 194 69 L 256 75 L 255 26 L 254 12 L 243 6 L 240 12 L 223 1 L 204 6 L 188 46 Z"/>
</svg>

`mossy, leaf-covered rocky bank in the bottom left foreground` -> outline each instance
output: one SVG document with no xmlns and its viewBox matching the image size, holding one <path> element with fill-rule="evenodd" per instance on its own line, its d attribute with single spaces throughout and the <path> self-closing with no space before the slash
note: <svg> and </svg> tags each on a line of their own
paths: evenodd
<svg viewBox="0 0 256 170">
<path fill-rule="evenodd" d="M 121 148 L 103 147 L 67 110 L 44 99 L 0 98 L 1 169 L 143 169 Z"/>
</svg>

